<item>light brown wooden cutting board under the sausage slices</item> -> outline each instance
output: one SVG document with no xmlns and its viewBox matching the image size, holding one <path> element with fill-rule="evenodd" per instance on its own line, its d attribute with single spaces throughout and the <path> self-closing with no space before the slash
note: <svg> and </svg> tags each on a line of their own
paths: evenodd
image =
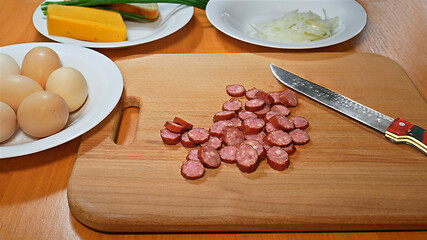
<svg viewBox="0 0 427 240">
<path fill-rule="evenodd" d="M 83 136 L 69 181 L 72 214 L 106 232 L 341 231 L 427 228 L 427 157 L 299 95 L 311 141 L 289 169 L 266 161 L 247 174 L 223 163 L 198 180 L 180 175 L 188 149 L 162 143 L 179 116 L 208 129 L 225 86 L 285 89 L 274 63 L 378 110 L 427 127 L 427 104 L 404 70 L 366 53 L 163 54 L 116 62 L 121 104 Z M 123 107 L 139 106 L 135 139 L 113 139 Z M 102 107 L 102 106 L 100 106 Z"/>
</svg>

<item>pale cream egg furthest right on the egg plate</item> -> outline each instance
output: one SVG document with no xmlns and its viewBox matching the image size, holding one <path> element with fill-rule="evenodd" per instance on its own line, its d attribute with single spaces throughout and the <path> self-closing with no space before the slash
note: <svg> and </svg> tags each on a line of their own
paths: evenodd
<svg viewBox="0 0 427 240">
<path fill-rule="evenodd" d="M 88 92 L 85 77 L 72 67 L 62 67 L 53 71 L 47 79 L 46 90 L 63 97 L 70 112 L 83 105 Z"/>
</svg>

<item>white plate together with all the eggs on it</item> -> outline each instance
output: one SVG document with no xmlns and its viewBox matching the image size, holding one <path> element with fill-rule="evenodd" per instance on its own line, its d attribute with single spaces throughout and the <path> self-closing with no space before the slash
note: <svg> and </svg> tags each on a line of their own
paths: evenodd
<svg viewBox="0 0 427 240">
<path fill-rule="evenodd" d="M 123 91 L 118 67 L 61 43 L 0 47 L 0 159 L 68 142 L 100 123 Z"/>
</svg>

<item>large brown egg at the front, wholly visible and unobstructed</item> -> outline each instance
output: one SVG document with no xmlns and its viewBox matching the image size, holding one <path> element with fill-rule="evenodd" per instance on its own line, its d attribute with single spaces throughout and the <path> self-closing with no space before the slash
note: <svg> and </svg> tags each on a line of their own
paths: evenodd
<svg viewBox="0 0 427 240">
<path fill-rule="evenodd" d="M 49 91 L 35 92 L 26 97 L 17 113 L 22 131 L 37 138 L 61 131 L 67 124 L 68 116 L 65 100 Z"/>
</svg>

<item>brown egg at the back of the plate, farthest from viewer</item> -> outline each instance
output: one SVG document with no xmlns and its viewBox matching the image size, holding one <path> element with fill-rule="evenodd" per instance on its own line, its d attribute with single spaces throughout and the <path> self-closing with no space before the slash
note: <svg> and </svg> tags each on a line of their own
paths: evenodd
<svg viewBox="0 0 427 240">
<path fill-rule="evenodd" d="M 48 47 L 35 47 L 25 55 L 21 74 L 35 80 L 45 88 L 50 74 L 60 67 L 62 67 L 62 63 L 55 51 Z"/>
</svg>

